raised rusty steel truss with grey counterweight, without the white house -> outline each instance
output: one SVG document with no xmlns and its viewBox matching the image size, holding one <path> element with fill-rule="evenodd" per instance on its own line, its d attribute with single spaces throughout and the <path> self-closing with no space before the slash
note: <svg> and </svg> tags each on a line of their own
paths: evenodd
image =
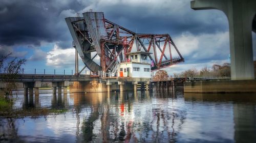
<svg viewBox="0 0 256 143">
<path fill-rule="evenodd" d="M 116 62 L 126 61 L 126 53 L 147 51 L 155 71 L 184 62 L 184 58 L 168 34 L 138 34 L 104 18 L 102 12 L 86 12 L 83 17 L 66 18 L 79 56 L 92 71 L 111 71 Z M 173 50 L 172 50 L 173 48 Z M 100 65 L 93 61 L 97 52 Z M 173 58 L 172 53 L 177 53 Z M 160 58 L 158 58 L 160 57 Z"/>
</svg>

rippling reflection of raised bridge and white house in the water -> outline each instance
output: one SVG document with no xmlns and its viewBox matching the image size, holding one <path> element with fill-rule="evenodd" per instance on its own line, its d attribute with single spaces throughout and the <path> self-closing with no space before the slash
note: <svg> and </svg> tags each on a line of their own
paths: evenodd
<svg viewBox="0 0 256 143">
<path fill-rule="evenodd" d="M 138 101 L 144 103 L 138 106 Z M 149 106 L 147 102 L 152 102 L 150 92 L 74 94 L 77 118 L 82 113 L 87 114 L 82 128 L 78 129 L 83 131 L 79 137 L 96 142 L 175 141 L 185 115 L 179 111 L 168 112 L 154 105 Z M 77 124 L 80 124 L 80 120 Z"/>
</svg>

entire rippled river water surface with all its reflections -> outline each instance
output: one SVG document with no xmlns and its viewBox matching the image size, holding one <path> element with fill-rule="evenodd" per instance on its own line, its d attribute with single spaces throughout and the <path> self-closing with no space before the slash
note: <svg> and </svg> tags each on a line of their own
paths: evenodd
<svg viewBox="0 0 256 143">
<path fill-rule="evenodd" d="M 63 112 L 0 116 L 0 142 L 256 142 L 255 94 L 45 90 L 36 98 L 20 90 L 15 98 L 15 110 Z"/>
</svg>

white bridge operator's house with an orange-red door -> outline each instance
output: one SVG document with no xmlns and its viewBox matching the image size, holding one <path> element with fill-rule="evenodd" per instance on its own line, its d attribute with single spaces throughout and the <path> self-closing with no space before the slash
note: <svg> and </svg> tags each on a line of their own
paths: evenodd
<svg viewBox="0 0 256 143">
<path fill-rule="evenodd" d="M 151 77 L 150 52 L 137 51 L 126 53 L 126 62 L 120 63 L 118 77 Z"/>
</svg>

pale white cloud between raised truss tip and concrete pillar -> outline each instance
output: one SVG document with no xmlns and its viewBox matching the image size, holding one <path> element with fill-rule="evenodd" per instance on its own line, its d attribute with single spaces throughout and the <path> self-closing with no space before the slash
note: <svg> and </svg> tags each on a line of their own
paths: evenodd
<svg viewBox="0 0 256 143">
<path fill-rule="evenodd" d="M 224 60 L 230 53 L 228 32 L 201 35 L 183 33 L 174 41 L 186 63 Z"/>
</svg>

